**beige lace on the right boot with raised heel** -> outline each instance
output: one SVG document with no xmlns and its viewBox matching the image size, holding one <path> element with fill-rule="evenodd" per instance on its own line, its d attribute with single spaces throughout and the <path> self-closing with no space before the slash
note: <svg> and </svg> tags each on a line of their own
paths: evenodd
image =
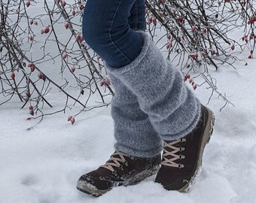
<svg viewBox="0 0 256 203">
<path fill-rule="evenodd" d="M 185 147 L 175 146 L 175 144 L 179 144 L 184 141 L 186 141 L 185 138 L 181 138 L 176 141 L 171 141 L 169 143 L 166 141 L 164 142 L 162 165 L 175 167 L 175 168 L 184 168 L 184 165 L 181 163 L 177 163 L 177 161 L 185 158 L 185 156 L 181 154 L 181 152 L 185 150 Z"/>
</svg>

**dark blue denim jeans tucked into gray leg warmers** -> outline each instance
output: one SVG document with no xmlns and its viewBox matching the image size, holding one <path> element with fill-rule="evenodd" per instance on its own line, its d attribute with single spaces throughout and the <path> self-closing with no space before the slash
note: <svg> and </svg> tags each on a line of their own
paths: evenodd
<svg viewBox="0 0 256 203">
<path fill-rule="evenodd" d="M 107 65 L 130 64 L 142 50 L 145 30 L 144 0 L 88 0 L 84 8 L 83 36 Z"/>
</svg>

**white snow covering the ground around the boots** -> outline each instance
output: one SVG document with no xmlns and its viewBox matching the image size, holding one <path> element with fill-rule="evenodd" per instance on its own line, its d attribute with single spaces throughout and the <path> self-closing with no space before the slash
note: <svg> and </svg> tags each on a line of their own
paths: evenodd
<svg viewBox="0 0 256 203">
<path fill-rule="evenodd" d="M 245 60 L 247 56 L 240 56 Z M 26 120 L 26 109 L 12 100 L 0 106 L 0 202 L 182 202 L 248 203 L 256 200 L 256 92 L 255 59 L 236 68 L 211 70 L 221 92 L 209 104 L 209 89 L 195 91 L 215 113 L 215 129 L 203 156 L 202 171 L 187 193 L 166 191 L 154 176 L 135 186 L 120 186 L 99 198 L 76 188 L 76 181 L 105 163 L 114 152 L 110 108 L 98 108 L 79 116 L 72 126 L 67 114 L 46 117 L 41 123 Z M 53 96 L 53 95 L 51 95 Z M 56 95 L 56 101 L 57 99 Z M 58 102 L 55 107 L 57 109 Z"/>
</svg>

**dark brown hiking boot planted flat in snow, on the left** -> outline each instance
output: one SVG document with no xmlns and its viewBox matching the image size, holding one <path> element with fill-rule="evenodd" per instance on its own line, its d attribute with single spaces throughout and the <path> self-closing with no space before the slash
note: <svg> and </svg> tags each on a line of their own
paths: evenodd
<svg viewBox="0 0 256 203">
<path fill-rule="evenodd" d="M 111 158 L 95 171 L 82 175 L 77 189 L 90 195 L 99 196 L 114 186 L 129 186 L 157 173 L 161 155 L 152 158 L 128 156 L 115 152 Z"/>
</svg>

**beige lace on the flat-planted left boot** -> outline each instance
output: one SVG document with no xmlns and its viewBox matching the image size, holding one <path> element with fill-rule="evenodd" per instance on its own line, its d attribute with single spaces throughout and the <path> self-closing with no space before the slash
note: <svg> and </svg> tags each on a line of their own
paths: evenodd
<svg viewBox="0 0 256 203">
<path fill-rule="evenodd" d="M 127 157 L 125 153 L 115 152 L 111 155 L 110 159 L 108 159 L 105 165 L 101 165 L 100 167 L 106 168 L 114 174 L 116 172 L 114 167 L 122 169 L 123 164 L 126 166 L 128 165 L 128 162 L 126 162 L 125 156 Z"/>
</svg>

